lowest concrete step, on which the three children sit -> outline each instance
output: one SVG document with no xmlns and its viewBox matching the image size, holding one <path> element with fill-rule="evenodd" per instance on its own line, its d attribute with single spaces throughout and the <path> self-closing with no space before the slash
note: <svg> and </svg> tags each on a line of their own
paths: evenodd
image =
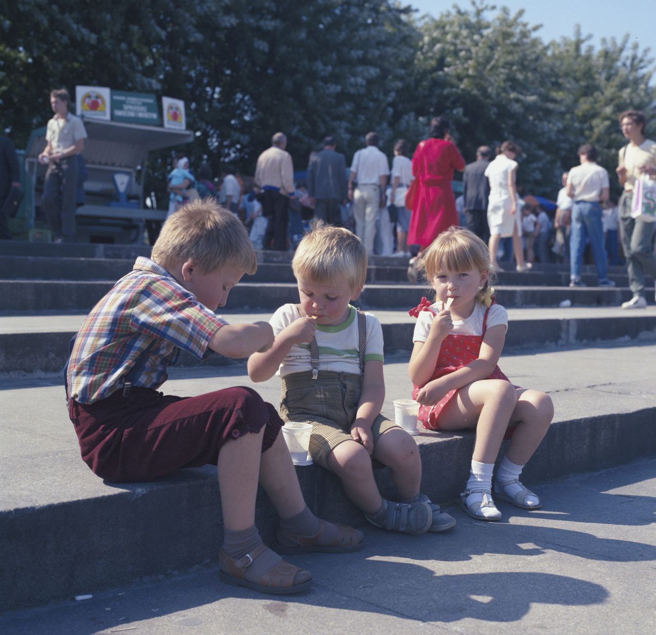
<svg viewBox="0 0 656 635">
<path fill-rule="evenodd" d="M 525 468 L 527 484 L 600 470 L 656 455 L 654 344 L 528 352 L 502 359 L 518 385 L 546 390 L 556 417 Z M 408 356 L 388 358 L 384 412 L 407 398 Z M 171 372 L 166 392 L 191 395 L 249 385 L 243 369 Z M 58 377 L 1 380 L 0 609 L 39 605 L 78 593 L 183 571 L 215 559 L 221 539 L 215 468 L 180 470 L 154 483 L 112 485 L 79 459 Z M 279 380 L 258 384 L 277 403 Z M 434 501 L 457 499 L 466 480 L 474 436 L 423 432 L 422 490 Z M 304 496 L 320 516 L 354 525 L 361 513 L 335 476 L 318 466 L 297 468 Z M 384 496 L 394 495 L 388 470 L 377 470 Z M 256 522 L 266 540 L 276 527 L 262 495 Z M 483 527 L 480 527 L 483 529 Z M 456 528 L 457 531 L 457 528 Z"/>
</svg>

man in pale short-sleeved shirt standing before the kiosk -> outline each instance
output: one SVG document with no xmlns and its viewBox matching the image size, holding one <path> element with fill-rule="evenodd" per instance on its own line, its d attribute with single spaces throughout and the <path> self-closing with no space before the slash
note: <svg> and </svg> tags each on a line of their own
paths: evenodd
<svg viewBox="0 0 656 635">
<path fill-rule="evenodd" d="M 41 209 L 48 219 L 56 243 L 75 240 L 75 155 L 84 150 L 84 140 L 87 138 L 82 120 L 68 112 L 70 101 L 65 89 L 51 92 L 50 105 L 54 117 L 46 129 L 45 150 L 39 154 L 39 163 L 48 165 L 43 182 Z"/>
</svg>

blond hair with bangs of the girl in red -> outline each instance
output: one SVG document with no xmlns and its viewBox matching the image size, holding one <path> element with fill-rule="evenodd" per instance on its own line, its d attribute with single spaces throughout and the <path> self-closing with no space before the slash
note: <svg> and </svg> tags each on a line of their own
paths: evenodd
<svg viewBox="0 0 656 635">
<path fill-rule="evenodd" d="M 487 272 L 487 280 L 476 297 L 487 306 L 491 302 L 494 270 L 489 264 L 489 251 L 487 245 L 470 230 L 452 226 L 442 232 L 424 249 L 419 269 L 430 283 L 443 270 L 461 272 L 475 269 L 481 274 Z"/>
</svg>

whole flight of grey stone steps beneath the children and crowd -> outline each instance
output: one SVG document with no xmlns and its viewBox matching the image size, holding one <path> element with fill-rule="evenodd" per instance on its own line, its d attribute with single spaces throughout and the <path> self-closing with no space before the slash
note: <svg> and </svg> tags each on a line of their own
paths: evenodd
<svg viewBox="0 0 656 635">
<path fill-rule="evenodd" d="M 155 483 L 104 483 L 79 459 L 66 413 L 60 369 L 68 340 L 138 255 L 148 248 L 0 241 L 0 609 L 186 571 L 216 557 L 222 523 L 215 468 L 180 470 Z M 255 276 L 230 293 L 223 312 L 229 321 L 268 319 L 283 302 L 297 301 L 291 255 L 261 252 L 258 259 Z M 407 309 L 430 289 L 407 283 L 405 263 L 396 258 L 370 264 L 358 304 L 383 325 L 384 411 L 391 415 L 392 400 L 410 390 L 414 319 Z M 596 274 L 584 268 L 589 286 L 570 289 L 561 266 L 499 274 L 497 297 L 510 316 L 501 367 L 517 384 L 549 392 L 556 405 L 554 424 L 525 470 L 527 483 L 656 454 L 656 307 L 621 310 L 630 297 L 626 272 L 611 269 L 610 277 L 614 289 L 593 287 Z M 563 300 L 573 306 L 560 308 Z M 213 357 L 199 363 L 181 356 L 166 392 L 250 384 L 243 361 Z M 279 380 L 257 388 L 277 403 Z M 473 435 L 424 432 L 416 439 L 422 488 L 436 501 L 454 501 Z M 297 472 L 318 514 L 363 522 L 332 474 L 316 465 Z M 384 495 L 393 496 L 387 470 L 376 477 Z M 271 537 L 276 516 L 261 494 L 256 521 Z"/>
</svg>

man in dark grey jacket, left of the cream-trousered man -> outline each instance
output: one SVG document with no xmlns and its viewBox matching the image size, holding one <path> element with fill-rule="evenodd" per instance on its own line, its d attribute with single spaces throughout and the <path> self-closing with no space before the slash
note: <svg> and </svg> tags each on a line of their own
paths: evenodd
<svg viewBox="0 0 656 635">
<path fill-rule="evenodd" d="M 329 225 L 340 227 L 340 203 L 346 203 L 346 159 L 335 152 L 335 137 L 323 140 L 323 150 L 308 165 L 308 195 L 314 205 L 314 216 Z"/>
</svg>

